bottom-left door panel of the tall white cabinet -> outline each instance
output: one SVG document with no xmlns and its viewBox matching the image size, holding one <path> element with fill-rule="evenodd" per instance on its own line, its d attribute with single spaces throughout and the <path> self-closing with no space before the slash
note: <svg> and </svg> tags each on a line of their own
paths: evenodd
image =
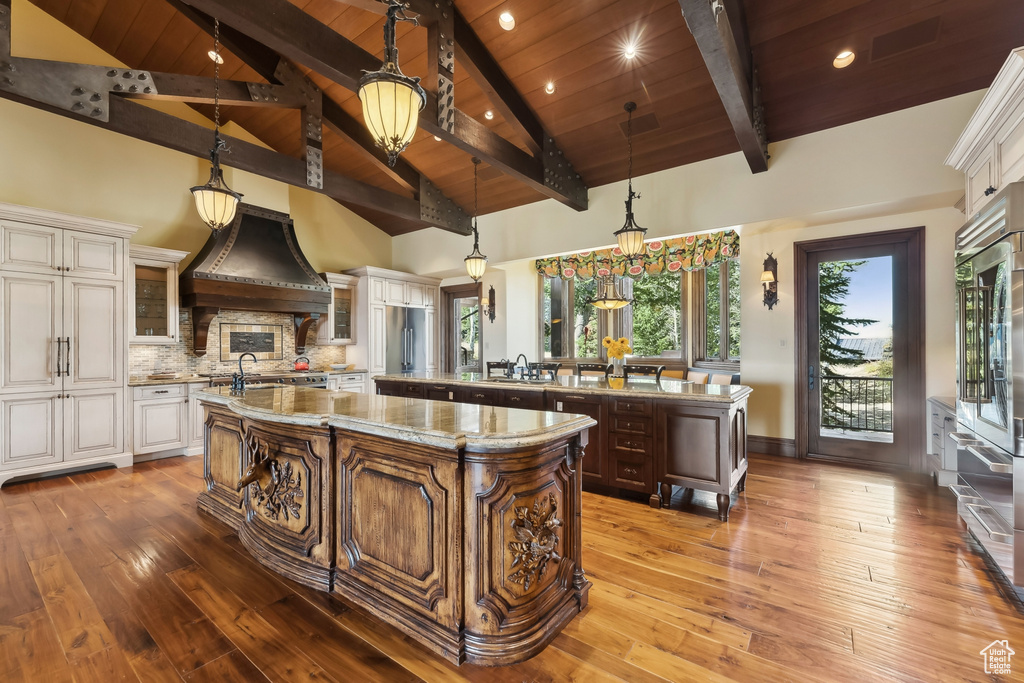
<svg viewBox="0 0 1024 683">
<path fill-rule="evenodd" d="M 63 459 L 63 403 L 56 392 L 0 397 L 0 470 Z"/>
</svg>

